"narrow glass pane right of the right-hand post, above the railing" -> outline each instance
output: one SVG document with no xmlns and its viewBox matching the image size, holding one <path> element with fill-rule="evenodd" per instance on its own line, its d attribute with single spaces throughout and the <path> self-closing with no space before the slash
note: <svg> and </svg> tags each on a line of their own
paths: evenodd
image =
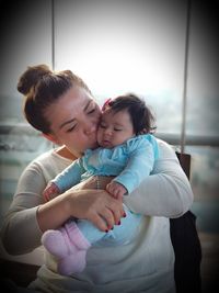
<svg viewBox="0 0 219 293">
<path fill-rule="evenodd" d="M 219 134 L 218 5 L 192 1 L 187 134 Z"/>
</svg>

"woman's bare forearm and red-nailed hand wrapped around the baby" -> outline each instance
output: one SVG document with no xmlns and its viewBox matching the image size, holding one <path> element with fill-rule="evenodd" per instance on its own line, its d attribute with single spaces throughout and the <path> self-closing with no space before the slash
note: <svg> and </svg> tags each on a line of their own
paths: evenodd
<svg viewBox="0 0 219 293">
<path fill-rule="evenodd" d="M 60 227 L 70 217 L 91 221 L 105 232 L 125 216 L 123 202 L 105 190 L 70 189 L 38 206 L 37 221 L 42 232 Z"/>
</svg>

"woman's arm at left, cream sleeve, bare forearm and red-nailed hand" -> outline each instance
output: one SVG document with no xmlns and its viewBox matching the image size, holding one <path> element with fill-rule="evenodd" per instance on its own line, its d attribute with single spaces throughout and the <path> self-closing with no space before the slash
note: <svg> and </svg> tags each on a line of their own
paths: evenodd
<svg viewBox="0 0 219 293">
<path fill-rule="evenodd" d="M 21 176 L 1 229 L 9 253 L 32 251 L 41 246 L 43 232 L 61 226 L 70 216 L 88 218 L 105 230 L 106 222 L 113 226 L 123 215 L 122 203 L 103 190 L 71 190 L 44 203 L 42 192 L 47 181 L 37 164 L 27 167 Z"/>
</svg>

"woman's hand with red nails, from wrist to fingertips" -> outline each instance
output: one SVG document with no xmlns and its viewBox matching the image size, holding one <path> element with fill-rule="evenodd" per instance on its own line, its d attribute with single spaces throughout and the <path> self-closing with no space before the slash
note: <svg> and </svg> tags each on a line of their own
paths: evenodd
<svg viewBox="0 0 219 293">
<path fill-rule="evenodd" d="M 91 221 L 101 230 L 108 230 L 125 216 L 123 202 L 113 199 L 105 190 L 68 190 L 69 213 L 77 218 Z"/>
</svg>

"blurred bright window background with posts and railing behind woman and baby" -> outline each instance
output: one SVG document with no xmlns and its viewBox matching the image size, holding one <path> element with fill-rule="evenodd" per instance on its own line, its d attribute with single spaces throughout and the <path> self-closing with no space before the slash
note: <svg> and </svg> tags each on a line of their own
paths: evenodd
<svg viewBox="0 0 219 293">
<path fill-rule="evenodd" d="M 0 219 L 22 170 L 53 147 L 26 124 L 18 79 L 37 64 L 71 69 L 100 104 L 141 95 L 155 135 L 192 155 L 207 292 L 219 272 L 218 1 L 8 0 L 0 13 Z"/>
</svg>

